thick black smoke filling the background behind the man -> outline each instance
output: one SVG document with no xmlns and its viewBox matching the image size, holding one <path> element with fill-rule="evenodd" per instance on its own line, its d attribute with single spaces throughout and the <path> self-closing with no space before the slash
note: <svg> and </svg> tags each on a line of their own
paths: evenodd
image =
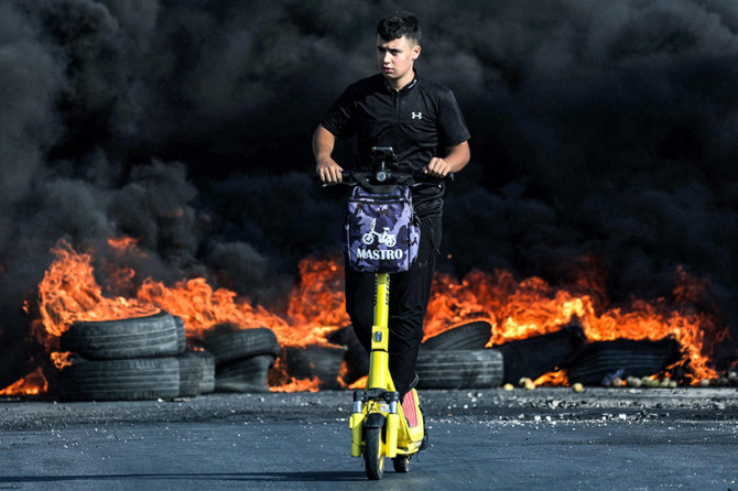
<svg viewBox="0 0 738 491">
<path fill-rule="evenodd" d="M 105 254 L 107 238 L 135 237 L 139 280 L 206 275 L 279 308 L 297 261 L 338 247 L 339 196 L 310 179 L 312 131 L 375 72 L 373 29 L 395 8 L 0 2 L 6 343 L 26 336 L 23 301 L 61 238 Z M 735 331 L 735 2 L 403 8 L 424 31 L 419 72 L 453 88 L 473 134 L 442 268 L 561 283 L 595 258 L 614 303 L 669 298 L 686 271 Z"/>
</svg>

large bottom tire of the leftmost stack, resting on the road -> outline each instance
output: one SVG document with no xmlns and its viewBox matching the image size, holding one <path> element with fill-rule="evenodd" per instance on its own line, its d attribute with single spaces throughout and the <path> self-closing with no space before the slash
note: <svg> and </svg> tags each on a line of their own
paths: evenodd
<svg viewBox="0 0 738 491">
<path fill-rule="evenodd" d="M 180 395 L 175 357 L 84 360 L 59 372 L 59 395 L 70 401 L 133 401 Z"/>
</svg>

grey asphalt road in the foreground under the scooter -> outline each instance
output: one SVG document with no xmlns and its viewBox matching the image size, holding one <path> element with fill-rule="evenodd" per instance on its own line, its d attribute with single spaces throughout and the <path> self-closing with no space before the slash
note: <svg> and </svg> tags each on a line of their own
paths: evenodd
<svg viewBox="0 0 738 491">
<path fill-rule="evenodd" d="M 738 490 L 735 389 L 422 397 L 432 447 L 380 483 L 348 455 L 347 392 L 6 401 L 0 489 Z"/>
</svg>

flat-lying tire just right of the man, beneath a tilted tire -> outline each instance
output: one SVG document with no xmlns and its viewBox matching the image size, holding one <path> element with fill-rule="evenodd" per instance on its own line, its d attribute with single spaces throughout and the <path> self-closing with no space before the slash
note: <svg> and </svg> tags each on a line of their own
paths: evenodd
<svg viewBox="0 0 738 491">
<path fill-rule="evenodd" d="M 502 353 L 495 349 L 421 350 L 419 389 L 485 389 L 502 383 Z"/>
</svg>

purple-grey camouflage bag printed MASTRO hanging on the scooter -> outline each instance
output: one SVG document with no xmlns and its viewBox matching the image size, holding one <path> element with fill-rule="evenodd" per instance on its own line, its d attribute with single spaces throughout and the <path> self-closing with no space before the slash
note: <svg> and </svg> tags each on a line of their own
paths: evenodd
<svg viewBox="0 0 738 491">
<path fill-rule="evenodd" d="M 408 186 L 371 193 L 355 186 L 348 199 L 344 251 L 355 271 L 398 273 L 417 258 L 420 220 Z"/>
</svg>

